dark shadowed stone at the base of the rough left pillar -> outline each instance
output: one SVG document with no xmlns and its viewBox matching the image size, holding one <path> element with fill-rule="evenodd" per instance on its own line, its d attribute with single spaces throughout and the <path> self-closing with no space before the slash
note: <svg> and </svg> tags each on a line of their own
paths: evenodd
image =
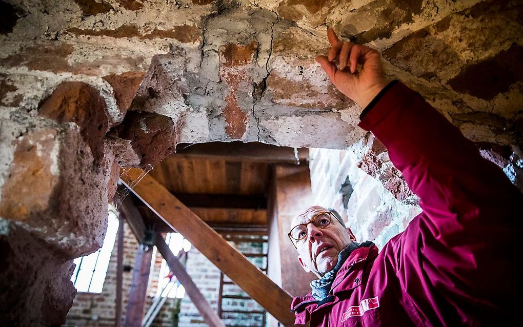
<svg viewBox="0 0 523 327">
<path fill-rule="evenodd" d="M 72 260 L 54 251 L 26 229 L 0 218 L 3 283 L 0 321 L 9 326 L 62 325 L 76 290 L 71 283 Z"/>
</svg>

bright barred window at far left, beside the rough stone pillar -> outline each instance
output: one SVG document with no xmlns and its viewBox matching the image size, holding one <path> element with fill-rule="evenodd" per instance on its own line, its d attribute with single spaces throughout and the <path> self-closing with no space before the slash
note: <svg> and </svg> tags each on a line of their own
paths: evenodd
<svg viewBox="0 0 523 327">
<path fill-rule="evenodd" d="M 101 293 L 104 287 L 107 267 L 111 259 L 112 249 L 115 246 L 118 233 L 118 217 L 114 208 L 109 208 L 107 233 L 102 247 L 89 255 L 76 258 L 71 281 L 79 292 Z"/>
</svg>

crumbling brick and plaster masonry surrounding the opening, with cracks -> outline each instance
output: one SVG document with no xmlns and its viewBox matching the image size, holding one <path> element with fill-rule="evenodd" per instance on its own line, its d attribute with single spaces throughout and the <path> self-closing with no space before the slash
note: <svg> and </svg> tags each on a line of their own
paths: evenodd
<svg viewBox="0 0 523 327">
<path fill-rule="evenodd" d="M 70 306 L 67 278 L 55 283 L 54 273 L 44 274 L 40 284 L 20 282 L 15 290 L 4 277 L 17 278 L 15 269 L 31 267 L 35 255 L 60 262 L 53 266 L 60 276 L 70 273 L 72 258 L 103 239 L 118 166 L 154 164 L 178 142 L 347 149 L 360 169 L 411 203 L 386 151 L 356 127 L 361 108 L 314 61 L 328 49 L 326 26 L 378 49 L 391 79 L 422 94 L 521 187 L 518 1 L 0 5 L 0 248 L 7 263 L 0 277 L 12 295 L 2 321 L 63 321 L 65 313 L 45 312 Z M 24 249 L 46 251 L 23 255 L 20 233 L 32 244 Z M 42 283 L 70 291 L 46 292 Z M 38 303 L 21 306 L 28 298 Z"/>
</svg>

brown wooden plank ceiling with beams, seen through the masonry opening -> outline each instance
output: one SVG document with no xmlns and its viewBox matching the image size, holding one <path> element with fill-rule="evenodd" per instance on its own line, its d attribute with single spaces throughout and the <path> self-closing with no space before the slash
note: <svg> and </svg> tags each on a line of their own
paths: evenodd
<svg viewBox="0 0 523 327">
<path fill-rule="evenodd" d="M 300 164 L 308 150 L 299 149 Z M 267 225 L 267 191 L 273 164 L 297 164 L 293 148 L 262 143 L 181 145 L 149 173 L 205 222 L 214 226 Z M 157 230 L 163 222 L 140 208 Z"/>
</svg>

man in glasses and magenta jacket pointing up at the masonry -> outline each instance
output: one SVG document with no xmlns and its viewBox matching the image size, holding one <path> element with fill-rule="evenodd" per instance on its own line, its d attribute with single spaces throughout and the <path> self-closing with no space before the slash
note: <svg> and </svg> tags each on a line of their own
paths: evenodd
<svg viewBox="0 0 523 327">
<path fill-rule="evenodd" d="M 521 192 L 421 96 L 387 83 L 377 51 L 331 29 L 328 40 L 328 57 L 316 60 L 365 108 L 359 126 L 388 148 L 423 212 L 380 253 L 356 243 L 334 210 L 296 216 L 289 238 L 319 277 L 292 302 L 296 324 L 521 325 Z"/>
</svg>

